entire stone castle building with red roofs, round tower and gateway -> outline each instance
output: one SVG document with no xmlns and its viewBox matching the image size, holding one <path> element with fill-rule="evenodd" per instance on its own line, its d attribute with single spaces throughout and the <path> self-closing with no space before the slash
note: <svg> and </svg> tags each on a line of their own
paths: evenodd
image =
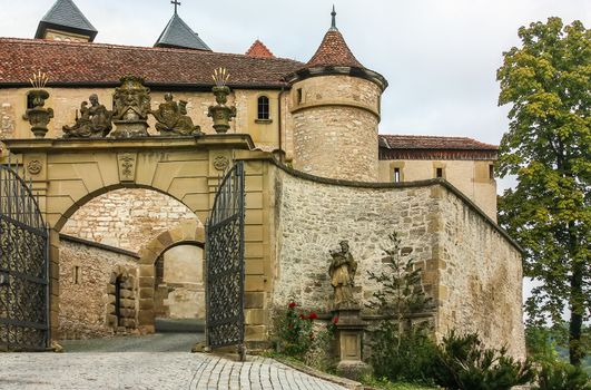
<svg viewBox="0 0 591 390">
<path fill-rule="evenodd" d="M 96 43 L 80 10 L 70 12 L 76 20 L 55 14 L 40 23 L 39 39 L 0 38 L 0 58 L 9 59 L 0 74 L 0 159 L 10 154 L 22 172 L 32 162 L 41 167 L 28 175 L 52 230 L 55 335 L 150 332 L 159 315 L 201 319 L 204 223 L 219 176 L 243 160 L 252 345 L 268 341 L 269 313 L 288 299 L 329 310 L 327 248 L 339 240 L 349 240 L 359 262 L 355 295 L 366 301 L 376 289 L 366 272 L 383 266 L 381 245 L 397 231 L 437 303 L 436 335 L 477 330 L 487 344 L 508 343 L 523 357 L 520 248 L 495 224 L 498 147 L 380 135 L 387 81 L 354 57 L 334 14 L 307 64 L 276 58 L 262 42 L 246 55 L 213 51 L 177 13 L 155 48 Z M 187 40 L 170 41 L 176 29 Z M 216 134 L 208 117 L 210 75 L 220 67 L 230 74 L 228 105 L 236 108 L 227 134 Z M 45 89 L 55 117 L 45 139 L 32 139 L 22 118 L 33 71 L 52 77 Z M 166 92 L 185 100 L 204 135 L 162 138 L 150 117 L 142 139 L 61 139 L 82 100 L 96 94 L 110 109 L 128 74 L 145 78 L 151 109 Z M 134 162 L 126 177 L 122 155 Z M 175 257 L 179 245 L 191 248 Z M 77 311 L 87 300 L 88 311 Z"/>
</svg>

